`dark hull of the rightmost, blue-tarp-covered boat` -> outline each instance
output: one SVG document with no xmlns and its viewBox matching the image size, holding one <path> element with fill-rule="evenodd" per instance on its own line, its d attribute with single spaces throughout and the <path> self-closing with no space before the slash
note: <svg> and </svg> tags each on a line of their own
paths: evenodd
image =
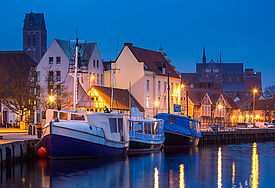
<svg viewBox="0 0 275 188">
<path fill-rule="evenodd" d="M 199 137 L 191 137 L 184 134 L 173 133 L 164 131 L 165 135 L 165 142 L 164 148 L 165 149 L 172 149 L 172 148 L 186 148 L 186 147 L 196 147 L 199 144 Z"/>
</svg>

